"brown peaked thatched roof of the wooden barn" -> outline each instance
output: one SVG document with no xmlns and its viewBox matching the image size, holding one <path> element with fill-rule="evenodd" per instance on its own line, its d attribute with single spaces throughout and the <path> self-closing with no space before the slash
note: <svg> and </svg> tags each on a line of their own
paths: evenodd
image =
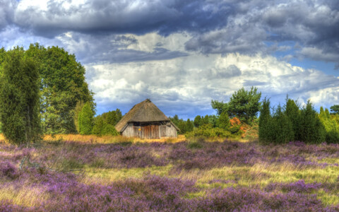
<svg viewBox="0 0 339 212">
<path fill-rule="evenodd" d="M 149 99 L 134 105 L 129 112 L 115 125 L 117 131 L 122 131 L 124 126 L 129 122 L 163 122 L 170 121 L 170 119 L 163 113 L 157 106 L 153 104 Z M 173 123 L 172 123 L 173 124 Z M 173 126 L 177 128 L 173 124 Z"/>
</svg>

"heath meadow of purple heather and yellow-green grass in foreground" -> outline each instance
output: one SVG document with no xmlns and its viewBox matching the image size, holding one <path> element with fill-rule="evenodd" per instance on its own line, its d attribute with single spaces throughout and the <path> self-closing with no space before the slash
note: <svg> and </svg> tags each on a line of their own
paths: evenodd
<svg viewBox="0 0 339 212">
<path fill-rule="evenodd" d="M 339 144 L 0 139 L 0 211 L 339 211 Z"/>
</svg>

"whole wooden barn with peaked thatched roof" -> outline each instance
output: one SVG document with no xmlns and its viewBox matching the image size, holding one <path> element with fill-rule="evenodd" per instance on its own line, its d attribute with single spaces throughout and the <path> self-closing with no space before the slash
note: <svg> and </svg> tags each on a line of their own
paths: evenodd
<svg viewBox="0 0 339 212">
<path fill-rule="evenodd" d="M 122 136 L 141 139 L 177 137 L 179 128 L 149 99 L 134 105 L 115 125 Z"/>
</svg>

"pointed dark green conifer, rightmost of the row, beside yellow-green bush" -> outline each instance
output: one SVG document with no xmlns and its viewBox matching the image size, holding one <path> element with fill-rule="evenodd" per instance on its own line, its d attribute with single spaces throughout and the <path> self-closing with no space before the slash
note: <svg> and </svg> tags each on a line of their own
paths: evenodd
<svg viewBox="0 0 339 212">
<path fill-rule="evenodd" d="M 322 143 L 326 139 L 326 130 L 310 101 L 301 112 L 300 141 L 307 143 Z"/>
</svg>

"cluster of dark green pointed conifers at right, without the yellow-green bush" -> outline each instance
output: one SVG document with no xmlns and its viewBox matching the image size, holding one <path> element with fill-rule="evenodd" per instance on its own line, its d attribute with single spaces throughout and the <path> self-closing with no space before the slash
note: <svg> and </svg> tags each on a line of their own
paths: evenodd
<svg viewBox="0 0 339 212">
<path fill-rule="evenodd" d="M 321 109 L 322 110 L 322 109 Z M 263 100 L 259 119 L 259 140 L 266 143 L 304 141 L 322 143 L 326 139 L 325 127 L 311 102 L 299 110 L 294 100 L 287 98 L 285 111 L 280 105 L 270 116 L 270 102 Z"/>
</svg>

